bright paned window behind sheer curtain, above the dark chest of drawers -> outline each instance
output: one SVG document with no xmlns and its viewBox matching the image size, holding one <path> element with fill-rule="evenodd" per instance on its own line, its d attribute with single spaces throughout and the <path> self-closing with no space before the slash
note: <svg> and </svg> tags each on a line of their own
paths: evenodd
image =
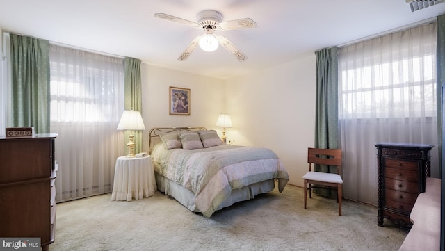
<svg viewBox="0 0 445 251">
<path fill-rule="evenodd" d="M 345 118 L 436 116 L 435 55 L 343 70 L 341 79 Z"/>
</svg>

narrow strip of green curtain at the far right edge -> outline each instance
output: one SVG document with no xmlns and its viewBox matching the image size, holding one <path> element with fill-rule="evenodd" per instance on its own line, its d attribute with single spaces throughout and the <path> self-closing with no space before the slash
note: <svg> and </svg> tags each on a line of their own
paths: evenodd
<svg viewBox="0 0 445 251">
<path fill-rule="evenodd" d="M 437 143 L 442 152 L 442 84 L 445 83 L 445 15 L 437 17 Z M 439 154 L 439 166 L 442 166 L 442 155 Z M 439 168 L 442 177 L 442 168 Z"/>
</svg>

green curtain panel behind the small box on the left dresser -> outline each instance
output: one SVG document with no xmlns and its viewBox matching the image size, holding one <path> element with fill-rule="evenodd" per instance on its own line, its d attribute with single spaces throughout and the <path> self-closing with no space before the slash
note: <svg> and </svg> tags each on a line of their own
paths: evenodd
<svg viewBox="0 0 445 251">
<path fill-rule="evenodd" d="M 13 127 L 49 133 L 49 42 L 10 34 Z"/>
</svg>

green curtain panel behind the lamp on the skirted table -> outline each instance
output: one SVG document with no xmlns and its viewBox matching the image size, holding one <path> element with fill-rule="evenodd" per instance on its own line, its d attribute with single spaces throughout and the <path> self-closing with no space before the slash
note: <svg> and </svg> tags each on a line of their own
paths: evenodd
<svg viewBox="0 0 445 251">
<path fill-rule="evenodd" d="M 139 111 L 142 115 L 142 88 L 140 81 L 140 59 L 126 57 L 125 67 L 125 110 Z M 128 138 L 129 132 L 125 133 Z M 134 131 L 134 152 L 142 151 L 142 131 Z"/>
</svg>

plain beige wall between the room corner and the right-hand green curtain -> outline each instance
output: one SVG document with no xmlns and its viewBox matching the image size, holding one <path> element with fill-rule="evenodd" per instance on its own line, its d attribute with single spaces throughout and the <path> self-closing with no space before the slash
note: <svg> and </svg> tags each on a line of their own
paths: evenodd
<svg viewBox="0 0 445 251">
<path fill-rule="evenodd" d="M 314 146 L 315 60 L 302 56 L 225 84 L 233 124 L 227 140 L 272 149 L 297 186 L 308 170 L 307 147 Z"/>
</svg>

